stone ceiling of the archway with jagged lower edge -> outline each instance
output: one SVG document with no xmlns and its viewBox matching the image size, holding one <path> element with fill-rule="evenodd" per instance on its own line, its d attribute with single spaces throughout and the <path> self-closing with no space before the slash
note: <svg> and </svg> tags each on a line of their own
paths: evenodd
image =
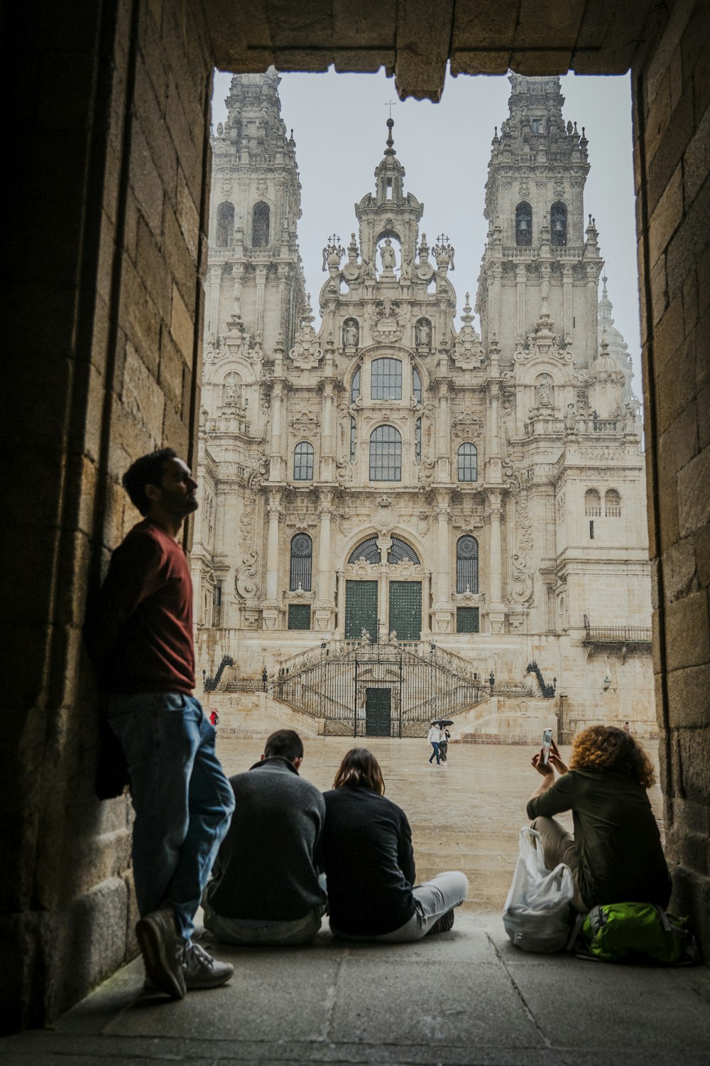
<svg viewBox="0 0 710 1066">
<path fill-rule="evenodd" d="M 625 74 L 656 0 L 202 0 L 222 70 L 394 72 L 437 100 L 451 72 Z M 671 6 L 673 6 L 671 4 Z M 653 23 L 653 25 L 651 25 Z"/>
</svg>

